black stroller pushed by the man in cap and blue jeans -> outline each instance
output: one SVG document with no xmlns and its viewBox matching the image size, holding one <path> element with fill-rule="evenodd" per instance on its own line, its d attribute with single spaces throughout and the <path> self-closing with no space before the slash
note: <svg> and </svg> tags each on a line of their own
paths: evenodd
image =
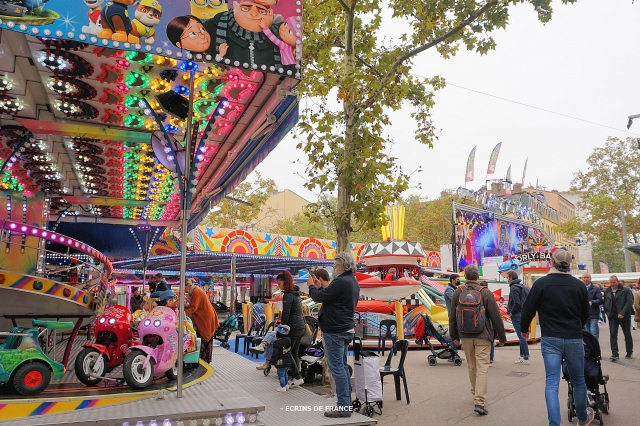
<svg viewBox="0 0 640 426">
<path fill-rule="evenodd" d="M 584 344 L 584 381 L 587 385 L 587 402 L 596 413 L 596 420 L 600 420 L 602 425 L 604 424 L 602 413 L 609 414 L 609 393 L 607 392 L 609 376 L 602 374 L 598 339 L 588 331 L 582 330 L 582 342 Z M 569 385 L 567 408 L 569 409 L 569 421 L 572 421 L 576 416 L 576 406 L 573 401 L 573 384 L 564 360 L 562 362 L 562 378 Z M 600 386 L 602 386 L 602 392 Z"/>
</svg>

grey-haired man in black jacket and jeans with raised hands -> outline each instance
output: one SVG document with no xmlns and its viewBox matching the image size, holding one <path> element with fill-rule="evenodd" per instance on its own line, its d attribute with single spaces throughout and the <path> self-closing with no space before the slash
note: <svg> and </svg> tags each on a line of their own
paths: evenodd
<svg viewBox="0 0 640 426">
<path fill-rule="evenodd" d="M 334 259 L 338 277 L 322 288 L 314 277 L 309 296 L 322 303 L 318 326 L 324 338 L 324 354 L 331 376 L 336 382 L 338 404 L 335 410 L 325 411 L 326 417 L 351 417 L 351 380 L 347 351 L 355 333 L 353 315 L 356 311 L 360 286 L 354 277 L 356 263 L 350 252 L 338 253 Z"/>
</svg>

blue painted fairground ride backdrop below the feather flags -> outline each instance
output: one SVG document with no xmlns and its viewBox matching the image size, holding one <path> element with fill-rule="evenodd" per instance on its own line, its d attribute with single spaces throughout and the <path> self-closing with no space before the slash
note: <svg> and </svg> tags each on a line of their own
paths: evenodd
<svg viewBox="0 0 640 426">
<path fill-rule="evenodd" d="M 512 256 L 532 248 L 541 232 L 493 214 L 456 209 L 455 239 L 459 268 L 482 266 L 483 257 Z M 538 238 L 532 238 L 537 236 Z"/>
</svg>

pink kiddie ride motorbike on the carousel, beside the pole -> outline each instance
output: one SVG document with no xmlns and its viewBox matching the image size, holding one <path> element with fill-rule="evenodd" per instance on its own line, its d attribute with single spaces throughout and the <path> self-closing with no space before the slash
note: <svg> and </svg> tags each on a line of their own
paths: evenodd
<svg viewBox="0 0 640 426">
<path fill-rule="evenodd" d="M 166 306 L 157 306 L 147 314 L 138 326 L 140 345 L 132 346 L 125 357 L 122 371 L 124 380 L 133 389 L 144 389 L 154 377 L 166 376 L 175 380 L 178 376 L 178 330 L 176 313 Z M 199 339 L 198 339 L 199 340 Z M 193 328 L 185 327 L 182 349 L 188 352 L 185 363 L 197 363 L 199 342 Z M 194 360 L 195 358 L 195 360 Z"/>
</svg>

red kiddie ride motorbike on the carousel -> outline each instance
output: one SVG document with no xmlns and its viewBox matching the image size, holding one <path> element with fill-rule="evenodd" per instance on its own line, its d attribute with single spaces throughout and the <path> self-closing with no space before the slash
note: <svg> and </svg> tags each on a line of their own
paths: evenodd
<svg viewBox="0 0 640 426">
<path fill-rule="evenodd" d="M 84 349 L 76 357 L 75 373 L 87 386 L 95 386 L 106 379 L 105 374 L 124 362 L 133 342 L 133 328 L 129 309 L 113 305 L 93 324 L 96 340 L 82 345 Z"/>
</svg>

